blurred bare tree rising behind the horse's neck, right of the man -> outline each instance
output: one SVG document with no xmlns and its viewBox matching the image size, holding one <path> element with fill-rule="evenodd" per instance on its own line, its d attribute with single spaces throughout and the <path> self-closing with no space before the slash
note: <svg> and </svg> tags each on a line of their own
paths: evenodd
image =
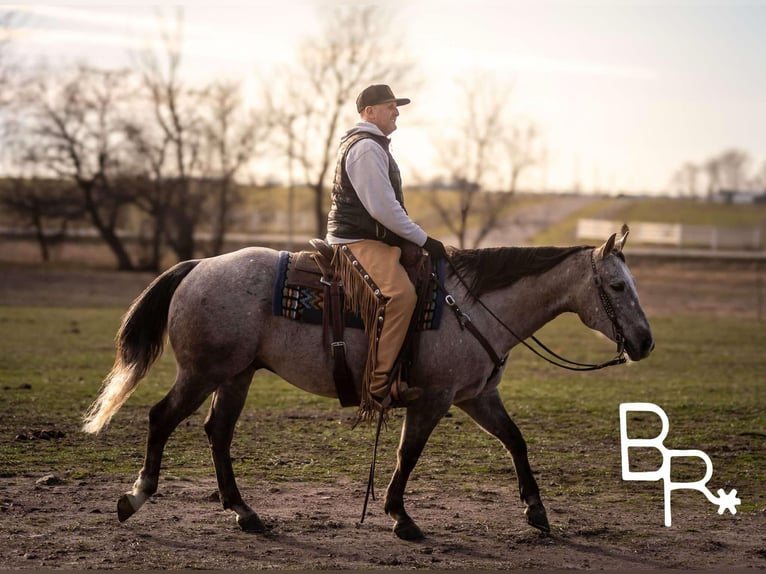
<svg viewBox="0 0 766 574">
<path fill-rule="evenodd" d="M 499 225 L 521 176 L 541 160 L 539 132 L 533 124 L 514 125 L 508 118 L 511 90 L 479 75 L 462 82 L 461 121 L 451 137 L 437 144 L 457 201 L 434 190 L 431 204 L 459 247 L 475 229 L 477 247 Z"/>
</svg>

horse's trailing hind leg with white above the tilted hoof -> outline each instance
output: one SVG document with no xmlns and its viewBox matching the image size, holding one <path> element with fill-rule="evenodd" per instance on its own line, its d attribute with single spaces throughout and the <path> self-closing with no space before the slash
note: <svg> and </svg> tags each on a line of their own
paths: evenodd
<svg viewBox="0 0 766 574">
<path fill-rule="evenodd" d="M 144 466 L 133 490 L 117 502 L 117 517 L 126 521 L 157 492 L 160 465 L 165 444 L 176 427 L 205 401 L 215 385 L 179 371 L 176 382 L 159 403 L 149 411 L 149 434 L 146 440 Z"/>
</svg>

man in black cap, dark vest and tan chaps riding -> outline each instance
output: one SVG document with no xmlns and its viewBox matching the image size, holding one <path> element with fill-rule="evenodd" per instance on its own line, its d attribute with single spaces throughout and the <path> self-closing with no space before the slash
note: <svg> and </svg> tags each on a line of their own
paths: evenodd
<svg viewBox="0 0 766 574">
<path fill-rule="evenodd" d="M 434 259 L 445 256 L 442 242 L 407 214 L 399 167 L 389 151 L 398 107 L 409 103 L 383 84 L 359 94 L 361 121 L 341 138 L 327 221 L 326 239 L 347 300 L 360 312 L 369 341 L 363 412 L 420 397 L 421 390 L 408 387 L 394 370 L 417 303 L 400 258 L 406 242 Z"/>
</svg>

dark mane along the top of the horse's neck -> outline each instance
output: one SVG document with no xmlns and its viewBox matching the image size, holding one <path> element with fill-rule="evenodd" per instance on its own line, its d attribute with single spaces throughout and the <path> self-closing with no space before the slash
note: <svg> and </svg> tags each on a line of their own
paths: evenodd
<svg viewBox="0 0 766 574">
<path fill-rule="evenodd" d="M 545 273 L 573 253 L 584 249 L 590 247 L 456 249 L 450 254 L 450 260 L 469 283 L 472 293 L 480 296 L 488 291 L 509 287 L 523 277 Z"/>
</svg>

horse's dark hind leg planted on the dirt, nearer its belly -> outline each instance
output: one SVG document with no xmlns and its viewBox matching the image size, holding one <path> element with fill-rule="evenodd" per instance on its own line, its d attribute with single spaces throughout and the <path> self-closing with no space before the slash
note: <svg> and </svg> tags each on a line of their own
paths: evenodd
<svg viewBox="0 0 766 574">
<path fill-rule="evenodd" d="M 205 421 L 210 449 L 215 463 L 218 479 L 218 491 L 224 508 L 230 508 L 237 514 L 237 524 L 247 532 L 264 532 L 266 527 L 261 519 L 242 500 L 234 478 L 231 464 L 230 446 L 234 437 L 234 426 L 245 405 L 247 391 L 255 369 L 249 369 L 216 389 L 210 405 L 210 413 Z"/>
</svg>

